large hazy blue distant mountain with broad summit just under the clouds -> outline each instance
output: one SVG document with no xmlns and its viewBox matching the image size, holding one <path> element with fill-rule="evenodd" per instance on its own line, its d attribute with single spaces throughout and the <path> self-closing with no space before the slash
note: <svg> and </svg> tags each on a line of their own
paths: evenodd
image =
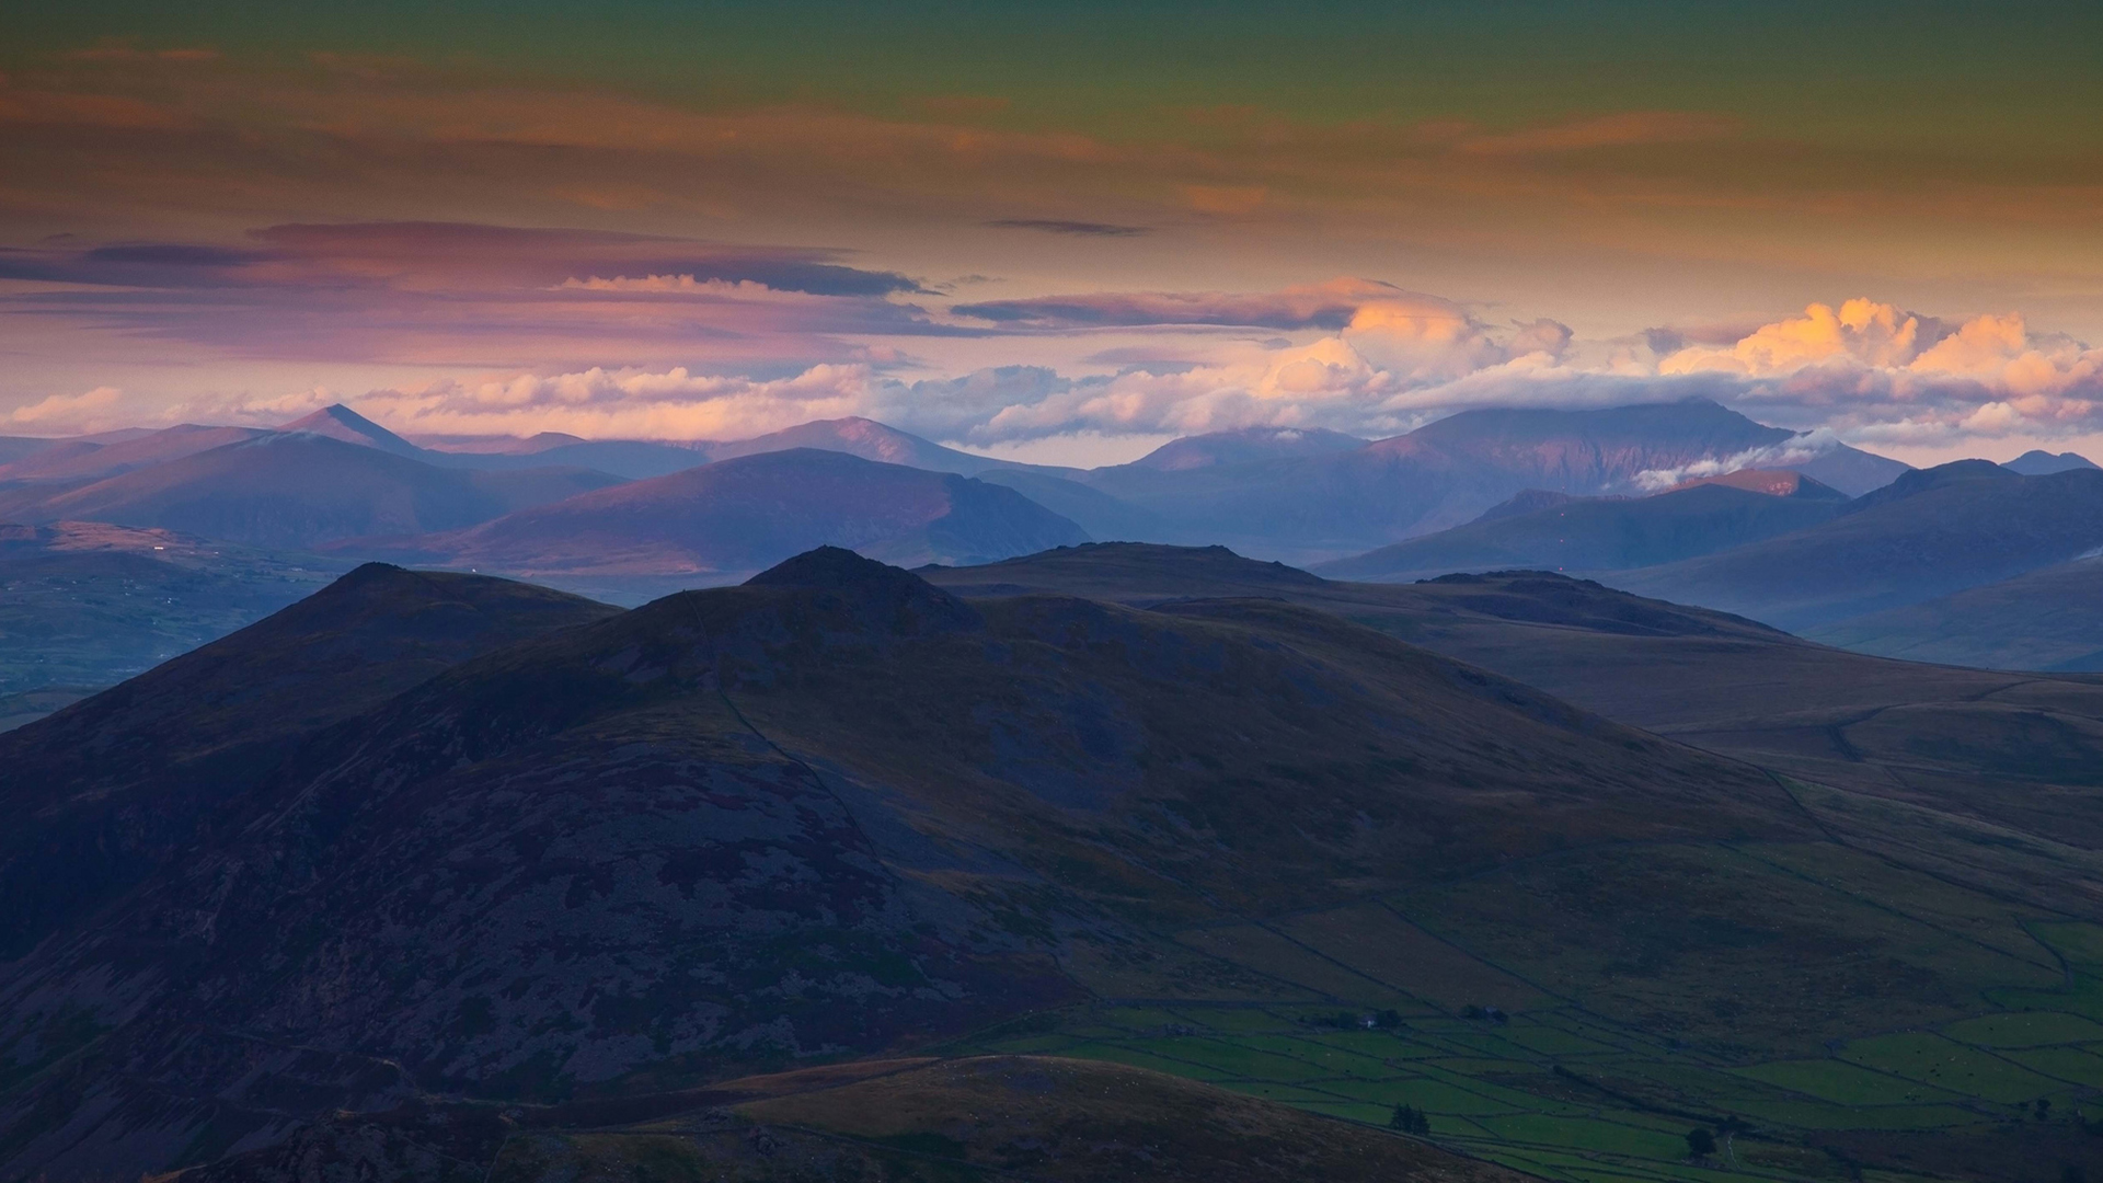
<svg viewBox="0 0 2103 1183">
<path fill-rule="evenodd" d="M 1474 520 L 1520 490 L 1640 493 L 1697 463 L 1790 455 L 1796 436 L 1708 400 L 1605 410 L 1464 410 L 1361 448 L 1163 469 L 1129 463 L 1077 480 L 1150 512 L 1148 541 L 1226 543 L 1319 562 Z M 1838 488 L 1905 465 L 1836 448 L 1790 463 Z M 1823 463 L 1823 467 L 1821 467 Z M 1844 478 L 1823 474 L 1844 469 Z"/>
</svg>

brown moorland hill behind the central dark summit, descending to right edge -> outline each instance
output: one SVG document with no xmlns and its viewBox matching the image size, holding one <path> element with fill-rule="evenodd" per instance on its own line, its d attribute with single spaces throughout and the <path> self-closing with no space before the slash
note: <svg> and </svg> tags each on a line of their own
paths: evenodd
<svg viewBox="0 0 2103 1183">
<path fill-rule="evenodd" d="M 1091 545 L 925 575 L 963 596 L 1268 596 L 1321 608 L 1817 783 L 1834 794 L 1830 808 L 1844 806 L 1821 806 L 1821 821 L 1884 857 L 2044 909 L 2103 911 L 2095 678 L 1891 661 L 1529 570 L 1342 583 L 1224 547 Z"/>
</svg>

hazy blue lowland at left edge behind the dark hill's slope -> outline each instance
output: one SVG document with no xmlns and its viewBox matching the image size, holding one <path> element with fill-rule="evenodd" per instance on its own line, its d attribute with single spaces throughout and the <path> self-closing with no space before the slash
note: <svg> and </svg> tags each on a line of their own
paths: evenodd
<svg viewBox="0 0 2103 1183">
<path fill-rule="evenodd" d="M 170 530 L 0 524 L 0 726 L 217 640 L 341 570 Z"/>
</svg>

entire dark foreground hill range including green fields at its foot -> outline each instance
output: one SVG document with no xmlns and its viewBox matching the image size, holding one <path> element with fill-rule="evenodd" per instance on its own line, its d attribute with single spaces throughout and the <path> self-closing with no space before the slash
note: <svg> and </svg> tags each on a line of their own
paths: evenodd
<svg viewBox="0 0 2103 1183">
<path fill-rule="evenodd" d="M 2015 1183 L 2097 760 L 2092 680 L 1541 573 L 368 564 L 0 735 L 0 1170 Z"/>
</svg>

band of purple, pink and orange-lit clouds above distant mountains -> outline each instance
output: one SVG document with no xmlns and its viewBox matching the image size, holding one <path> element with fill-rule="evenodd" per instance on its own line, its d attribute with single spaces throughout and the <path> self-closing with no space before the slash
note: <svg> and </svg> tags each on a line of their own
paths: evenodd
<svg viewBox="0 0 2103 1183">
<path fill-rule="evenodd" d="M 0 307 L 101 330 L 492 375 L 360 400 L 402 432 L 734 438 L 866 415 L 976 446 L 1255 425 L 1388 436 L 1470 406 L 1689 396 L 1872 446 L 2103 432 L 2103 349 L 2034 333 L 2017 312 L 1941 318 L 1872 299 L 1579 341 L 1556 320 L 1499 322 L 1354 276 L 951 301 L 835 250 L 467 223 L 275 225 L 233 246 L 61 242 L 0 250 L 0 280 L 17 282 Z M 1012 356 L 1110 347 L 1083 366 L 944 373 L 921 356 L 942 341 Z M 101 423 L 116 383 L 80 385 L 8 417 L 42 432 Z M 303 400 L 191 398 L 168 415 L 267 421 Z"/>
</svg>

